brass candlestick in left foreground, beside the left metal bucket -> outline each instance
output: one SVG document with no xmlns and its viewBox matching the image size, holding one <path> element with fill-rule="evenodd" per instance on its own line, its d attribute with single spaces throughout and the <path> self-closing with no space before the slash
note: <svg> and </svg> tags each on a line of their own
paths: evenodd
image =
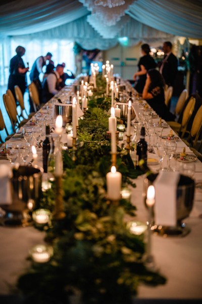
<svg viewBox="0 0 202 304">
<path fill-rule="evenodd" d="M 54 207 L 53 218 L 55 220 L 61 220 L 65 218 L 63 203 L 63 188 L 62 188 L 62 176 L 56 176 L 56 204 Z"/>
</svg>

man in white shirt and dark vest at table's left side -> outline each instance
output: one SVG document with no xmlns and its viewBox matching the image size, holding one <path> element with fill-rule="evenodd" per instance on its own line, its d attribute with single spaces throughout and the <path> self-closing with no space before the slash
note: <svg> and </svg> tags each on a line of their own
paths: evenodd
<svg viewBox="0 0 202 304">
<path fill-rule="evenodd" d="M 56 70 L 54 70 L 53 64 L 48 64 L 46 68 L 47 77 L 44 79 L 42 84 L 42 96 L 43 102 L 47 102 L 51 99 L 55 94 L 61 90 L 61 75 L 64 73 L 64 66 L 62 64 L 58 64 L 56 66 Z"/>
</svg>

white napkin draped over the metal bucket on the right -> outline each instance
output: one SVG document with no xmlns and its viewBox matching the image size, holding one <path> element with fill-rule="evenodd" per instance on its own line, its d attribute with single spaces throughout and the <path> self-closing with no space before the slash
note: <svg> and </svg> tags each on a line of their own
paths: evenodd
<svg viewBox="0 0 202 304">
<path fill-rule="evenodd" d="M 179 172 L 160 171 L 155 186 L 155 224 L 176 226 Z"/>
</svg>

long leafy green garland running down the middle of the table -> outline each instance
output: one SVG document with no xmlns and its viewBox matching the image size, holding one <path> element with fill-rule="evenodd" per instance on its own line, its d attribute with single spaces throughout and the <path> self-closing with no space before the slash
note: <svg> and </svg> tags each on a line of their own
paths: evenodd
<svg viewBox="0 0 202 304">
<path fill-rule="evenodd" d="M 127 200 L 114 205 L 106 198 L 111 147 L 106 141 L 107 108 L 102 109 L 100 98 L 105 99 L 91 100 L 93 107 L 80 120 L 78 136 L 84 144 L 76 151 L 76 161 L 72 161 L 71 151 L 64 152 L 66 218 L 43 227 L 54 255 L 43 264 L 31 261 L 18 280 L 17 287 L 29 303 L 69 303 L 75 293 L 85 304 L 130 303 L 140 282 L 154 286 L 166 282 L 160 274 L 145 269 L 143 237 L 130 234 L 126 227 L 124 217 L 134 216 L 135 207 Z M 135 186 L 131 179 L 141 172 L 134 170 L 125 150 L 118 150 L 117 169 L 123 184 Z M 53 183 L 40 208 L 52 211 L 54 203 Z"/>
</svg>

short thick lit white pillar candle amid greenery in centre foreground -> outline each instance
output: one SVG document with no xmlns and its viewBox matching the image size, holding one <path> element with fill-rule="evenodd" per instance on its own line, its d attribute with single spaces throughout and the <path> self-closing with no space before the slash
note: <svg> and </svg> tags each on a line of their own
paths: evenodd
<svg viewBox="0 0 202 304">
<path fill-rule="evenodd" d="M 121 193 L 121 173 L 116 172 L 116 167 L 112 166 L 111 172 L 107 173 L 107 194 L 110 200 L 119 200 Z"/>
</svg>

